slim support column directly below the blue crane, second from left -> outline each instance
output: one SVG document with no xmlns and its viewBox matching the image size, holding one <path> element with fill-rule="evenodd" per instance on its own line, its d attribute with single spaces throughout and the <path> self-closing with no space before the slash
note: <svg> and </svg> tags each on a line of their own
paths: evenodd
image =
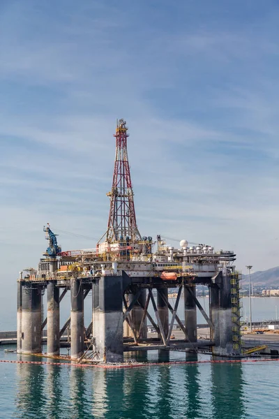
<svg viewBox="0 0 279 419">
<path fill-rule="evenodd" d="M 59 288 L 50 281 L 47 284 L 47 355 L 59 355 L 59 325 Z"/>
</svg>

